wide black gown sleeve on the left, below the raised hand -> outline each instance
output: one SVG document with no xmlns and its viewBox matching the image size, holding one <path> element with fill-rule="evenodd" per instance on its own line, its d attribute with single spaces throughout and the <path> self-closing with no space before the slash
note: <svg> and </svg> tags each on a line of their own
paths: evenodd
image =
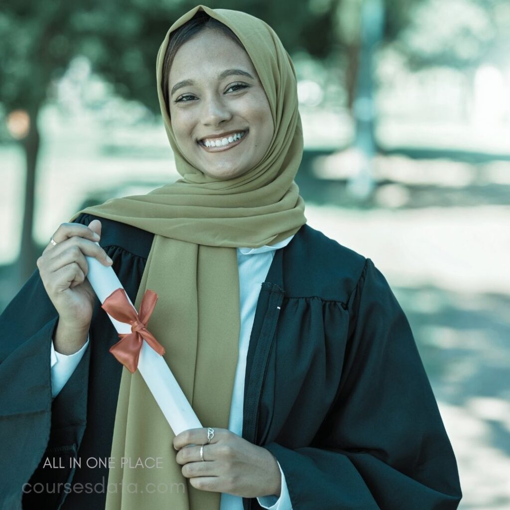
<svg viewBox="0 0 510 510">
<path fill-rule="evenodd" d="M 58 318 L 39 269 L 0 315 L 0 509 L 21 508 L 21 500 L 32 508 L 29 482 L 65 483 L 72 474 L 71 457 L 86 425 L 90 348 L 53 398 L 50 355 Z M 46 459 L 65 467 L 43 469 Z M 44 495 L 37 507 L 56 508 L 58 493 Z"/>
</svg>

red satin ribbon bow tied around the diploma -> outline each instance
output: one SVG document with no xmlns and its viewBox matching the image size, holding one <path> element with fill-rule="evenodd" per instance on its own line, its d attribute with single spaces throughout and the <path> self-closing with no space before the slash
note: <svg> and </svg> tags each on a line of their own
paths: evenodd
<svg viewBox="0 0 510 510">
<path fill-rule="evenodd" d="M 114 319 L 131 324 L 131 333 L 119 333 L 121 340 L 110 347 L 110 352 L 131 373 L 136 372 L 138 367 L 138 358 L 144 340 L 158 354 L 165 353 L 164 347 L 147 331 L 146 327 L 156 301 L 158 301 L 158 294 L 147 289 L 140 304 L 140 314 L 137 314 L 127 299 L 125 290 L 119 288 L 113 291 L 101 305 L 101 308 Z"/>
</svg>

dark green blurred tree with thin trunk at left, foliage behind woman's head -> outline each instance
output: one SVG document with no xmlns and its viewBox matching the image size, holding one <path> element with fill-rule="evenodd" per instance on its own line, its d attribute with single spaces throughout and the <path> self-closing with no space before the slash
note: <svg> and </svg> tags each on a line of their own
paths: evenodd
<svg viewBox="0 0 510 510">
<path fill-rule="evenodd" d="M 439 0 L 431 1 L 441 4 Z M 425 0 L 381 2 L 382 42 L 394 41 L 405 33 L 416 5 L 426 3 Z M 362 3 L 363 0 L 220 0 L 215 7 L 243 10 L 267 21 L 289 53 L 304 49 L 313 57 L 332 58 L 343 65 L 347 106 L 352 109 L 359 70 L 363 68 L 360 65 Z M 478 3 L 487 8 L 497 2 L 479 0 Z M 90 60 L 92 70 L 113 84 L 116 94 L 139 100 L 159 114 L 154 84 L 157 50 L 171 23 L 195 5 L 196 0 L 76 0 L 72 3 L 4 0 L 2 3 L 0 100 L 7 116 L 21 110 L 30 119 L 28 132 L 19 137 L 27 164 L 18 261 L 21 282 L 34 270 L 38 256 L 32 238 L 40 145 L 37 115 L 48 98 L 49 85 L 64 74 L 75 56 L 84 55 Z M 380 27 L 374 30 L 379 31 Z M 414 55 L 411 45 L 402 51 Z M 422 58 L 421 63 L 426 65 L 426 59 Z"/>
</svg>

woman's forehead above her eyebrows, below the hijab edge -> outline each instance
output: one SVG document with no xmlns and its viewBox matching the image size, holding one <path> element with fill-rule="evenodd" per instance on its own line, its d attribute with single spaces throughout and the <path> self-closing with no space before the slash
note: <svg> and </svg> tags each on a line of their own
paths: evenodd
<svg viewBox="0 0 510 510">
<path fill-rule="evenodd" d="M 256 71 L 246 50 L 231 37 L 217 30 L 203 30 L 186 41 L 176 52 L 170 67 L 169 81 L 211 78 L 227 68 Z"/>
</svg>

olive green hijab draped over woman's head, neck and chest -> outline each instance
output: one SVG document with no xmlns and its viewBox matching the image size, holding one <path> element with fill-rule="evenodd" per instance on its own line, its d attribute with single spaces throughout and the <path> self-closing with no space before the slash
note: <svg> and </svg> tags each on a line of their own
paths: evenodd
<svg viewBox="0 0 510 510">
<path fill-rule="evenodd" d="M 266 155 L 234 179 L 214 179 L 189 163 L 176 143 L 163 98 L 162 69 L 169 36 L 198 11 L 238 36 L 271 108 L 274 135 Z M 240 334 L 236 248 L 276 244 L 306 223 L 304 202 L 294 182 L 303 150 L 295 70 L 278 36 L 264 21 L 199 5 L 168 30 L 159 48 L 156 78 L 165 129 L 182 179 L 146 195 L 114 198 L 86 208 L 71 220 L 85 212 L 155 234 L 135 307 L 139 310 L 146 289 L 158 294 L 149 331 L 165 348 L 164 359 L 201 424 L 228 428 Z M 131 374 L 123 368 L 107 510 L 219 509 L 220 493 L 197 490 L 182 475 L 173 438 L 140 372 Z M 121 469 L 122 457 L 130 458 L 133 465 L 138 457 L 162 457 L 162 468 Z M 148 493 L 146 484 L 151 483 L 153 492 Z"/>
</svg>

